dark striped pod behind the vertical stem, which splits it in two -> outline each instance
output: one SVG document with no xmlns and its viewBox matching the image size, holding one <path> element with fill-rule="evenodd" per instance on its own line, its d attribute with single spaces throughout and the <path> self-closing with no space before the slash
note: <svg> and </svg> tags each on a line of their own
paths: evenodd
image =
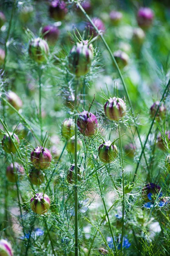
<svg viewBox="0 0 170 256">
<path fill-rule="evenodd" d="M 67 181 L 70 184 L 73 184 L 75 182 L 75 164 L 72 164 L 70 169 L 68 169 L 67 172 Z M 81 165 L 77 166 L 77 175 L 78 175 L 78 180 L 81 181 L 85 177 L 85 170 Z"/>
</svg>

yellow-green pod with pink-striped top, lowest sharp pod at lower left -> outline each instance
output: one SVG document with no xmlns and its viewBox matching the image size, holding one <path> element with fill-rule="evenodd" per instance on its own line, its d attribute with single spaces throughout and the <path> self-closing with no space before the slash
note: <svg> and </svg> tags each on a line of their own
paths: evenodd
<svg viewBox="0 0 170 256">
<path fill-rule="evenodd" d="M 38 193 L 31 198 L 31 209 L 41 215 L 48 212 L 50 209 L 50 198 L 48 195 L 43 193 Z"/>
</svg>

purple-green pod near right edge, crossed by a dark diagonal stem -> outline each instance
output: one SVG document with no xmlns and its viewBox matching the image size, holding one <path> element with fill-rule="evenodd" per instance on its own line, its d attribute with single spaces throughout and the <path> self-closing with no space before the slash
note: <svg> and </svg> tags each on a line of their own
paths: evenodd
<svg viewBox="0 0 170 256">
<path fill-rule="evenodd" d="M 151 106 L 151 108 L 150 108 L 150 115 L 151 115 L 151 117 L 155 116 L 157 108 L 159 106 L 159 103 L 160 103 L 159 101 L 156 101 Z M 162 120 L 165 119 L 166 111 L 167 111 L 167 109 L 166 109 L 165 105 L 163 103 L 161 103 L 161 105 L 159 106 L 159 110 L 158 110 L 158 112 L 156 114 L 156 118 L 155 119 L 157 121 L 160 121 L 160 119 L 162 119 Z"/>
</svg>

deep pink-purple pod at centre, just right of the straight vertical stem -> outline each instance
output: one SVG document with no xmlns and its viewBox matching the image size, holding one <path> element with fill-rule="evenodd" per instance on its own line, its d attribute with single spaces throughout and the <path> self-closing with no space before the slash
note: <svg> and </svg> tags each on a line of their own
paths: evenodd
<svg viewBox="0 0 170 256">
<path fill-rule="evenodd" d="M 93 113 L 83 111 L 77 118 L 77 126 L 81 134 L 89 137 L 96 133 L 98 121 Z"/>
</svg>

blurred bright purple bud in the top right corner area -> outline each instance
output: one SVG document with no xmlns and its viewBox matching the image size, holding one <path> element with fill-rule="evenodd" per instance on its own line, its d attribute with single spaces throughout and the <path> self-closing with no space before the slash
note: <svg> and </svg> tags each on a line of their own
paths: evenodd
<svg viewBox="0 0 170 256">
<path fill-rule="evenodd" d="M 137 14 L 137 22 L 138 25 L 143 28 L 147 29 L 152 25 L 154 18 L 153 11 L 147 7 L 141 7 Z"/>
</svg>

